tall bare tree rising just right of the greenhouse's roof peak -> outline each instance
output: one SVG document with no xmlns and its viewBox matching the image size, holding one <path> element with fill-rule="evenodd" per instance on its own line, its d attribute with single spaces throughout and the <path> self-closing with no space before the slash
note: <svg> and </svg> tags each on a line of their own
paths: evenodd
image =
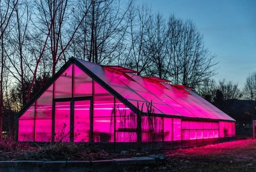
<svg viewBox="0 0 256 172">
<path fill-rule="evenodd" d="M 92 5 L 76 35 L 74 55 L 97 64 L 113 63 L 127 29 L 124 19 L 132 1 L 125 5 L 120 0 L 84 0 L 79 13 L 84 13 L 89 2 Z M 77 20 L 81 20 L 79 16 Z"/>
</svg>

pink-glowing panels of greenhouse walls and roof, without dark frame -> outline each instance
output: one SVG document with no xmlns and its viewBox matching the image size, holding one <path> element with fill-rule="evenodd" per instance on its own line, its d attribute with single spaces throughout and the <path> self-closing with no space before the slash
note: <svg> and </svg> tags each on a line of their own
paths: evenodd
<svg viewBox="0 0 256 172">
<path fill-rule="evenodd" d="M 102 66 L 82 62 L 103 82 L 117 91 L 135 107 L 147 112 L 153 101 L 155 114 L 210 119 L 234 119 L 223 113 L 194 91 L 163 82 L 151 81 L 139 75 L 105 70 Z M 74 68 L 73 68 L 74 66 Z M 72 73 L 74 71 L 74 77 Z M 72 81 L 72 78 L 74 80 Z M 54 98 L 93 96 L 90 100 L 74 101 L 74 142 L 89 142 L 90 108 L 93 109 L 94 142 L 136 142 L 137 116 L 105 88 L 75 65 L 70 65 L 57 80 L 19 118 L 19 141 L 51 141 L 52 102 Z M 92 85 L 94 84 L 94 85 Z M 94 89 L 92 89 L 94 86 Z M 94 92 L 92 92 L 94 90 Z M 114 100 L 116 102 L 114 103 Z M 114 111 L 116 110 L 116 111 Z M 116 116 L 114 116 L 116 115 Z M 173 116 L 172 116 L 173 117 Z M 182 118 L 154 117 L 156 141 L 178 141 L 235 136 L 234 122 L 185 121 Z M 116 119 L 116 121 L 114 121 Z M 35 123 L 35 124 L 34 124 Z M 34 131 L 35 125 L 35 131 Z M 70 137 L 70 102 L 55 102 L 54 141 L 68 142 Z M 116 126 L 114 128 L 114 126 Z M 150 139 L 147 117 L 142 118 L 142 141 Z"/>
</svg>

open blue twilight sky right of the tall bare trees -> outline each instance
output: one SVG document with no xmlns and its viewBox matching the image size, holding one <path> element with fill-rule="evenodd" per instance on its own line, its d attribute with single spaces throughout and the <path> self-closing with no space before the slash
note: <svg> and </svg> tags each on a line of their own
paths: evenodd
<svg viewBox="0 0 256 172">
<path fill-rule="evenodd" d="M 217 56 L 215 80 L 226 79 L 243 88 L 249 73 L 256 71 L 255 0 L 147 0 L 166 18 L 191 19 L 204 35 L 205 46 Z"/>
</svg>

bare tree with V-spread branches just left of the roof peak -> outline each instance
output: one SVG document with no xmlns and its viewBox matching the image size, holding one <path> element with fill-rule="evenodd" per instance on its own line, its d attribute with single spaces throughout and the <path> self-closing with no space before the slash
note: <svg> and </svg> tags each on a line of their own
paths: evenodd
<svg viewBox="0 0 256 172">
<path fill-rule="evenodd" d="M 36 24 L 41 23 L 41 30 L 46 31 L 46 33 L 50 31 L 50 45 L 48 47 L 51 52 L 52 74 L 54 75 L 57 63 L 62 59 L 66 61 L 66 50 L 87 15 L 87 8 L 84 9 L 83 13 L 79 13 L 81 18 L 75 27 L 70 27 L 74 18 L 75 2 L 72 4 L 68 0 L 38 0 L 36 1 L 36 6 L 39 14 L 39 23 Z"/>
</svg>

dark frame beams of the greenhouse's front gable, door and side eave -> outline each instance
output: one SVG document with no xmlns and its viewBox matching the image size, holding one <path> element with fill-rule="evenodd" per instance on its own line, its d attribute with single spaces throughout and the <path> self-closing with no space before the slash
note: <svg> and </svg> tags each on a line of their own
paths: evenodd
<svg viewBox="0 0 256 172">
<path fill-rule="evenodd" d="M 54 108 L 54 112 L 52 112 L 52 141 L 54 141 L 54 122 L 55 122 L 55 102 L 57 101 L 70 101 L 70 106 L 74 106 L 74 101 L 77 100 L 86 100 L 86 98 L 89 97 L 77 97 L 74 98 L 74 65 L 72 68 L 72 97 L 71 98 L 59 98 L 59 99 L 55 99 L 54 98 L 54 93 L 55 93 L 55 87 L 54 87 L 54 81 L 57 80 L 59 78 L 59 76 L 62 74 L 62 72 L 64 72 L 66 70 L 67 67 L 69 67 L 70 65 L 75 64 L 77 67 L 79 67 L 85 74 L 87 74 L 88 76 L 90 76 L 90 78 L 92 78 L 92 82 L 97 82 L 99 85 L 101 85 L 101 87 L 105 88 L 110 94 L 112 94 L 114 96 L 114 98 L 118 99 L 119 101 L 121 101 L 124 105 L 126 105 L 128 108 L 130 108 L 134 113 L 137 114 L 137 142 L 141 143 L 141 116 L 142 115 L 146 115 L 147 113 L 143 113 L 141 110 L 139 110 L 137 107 L 135 107 L 133 104 L 131 104 L 131 102 L 127 101 L 127 99 L 125 99 L 123 96 L 121 96 L 121 94 L 119 94 L 117 91 L 115 91 L 113 88 L 110 87 L 110 85 L 106 84 L 105 82 L 103 82 L 97 75 L 95 75 L 93 72 L 91 72 L 88 68 L 86 68 L 81 62 L 78 61 L 78 59 L 72 57 L 69 58 L 69 61 L 64 64 L 60 70 L 52 77 L 52 79 L 46 83 L 46 85 L 37 93 L 35 94 L 35 96 L 33 98 L 31 98 L 31 100 L 28 102 L 28 104 L 22 108 L 22 110 L 18 113 L 18 115 L 15 117 L 15 124 L 17 126 L 17 130 L 15 130 L 15 140 L 18 141 L 18 120 L 19 117 L 21 117 L 21 115 L 31 106 L 34 104 L 34 102 L 36 102 L 37 98 L 39 96 L 41 96 L 44 91 L 46 91 L 51 84 L 53 84 L 53 108 Z M 93 85 L 93 84 L 92 84 Z M 94 95 L 94 86 L 92 86 L 93 91 L 92 91 L 92 96 L 90 97 L 91 100 L 91 109 L 90 109 L 90 141 L 93 142 L 93 95 Z M 72 105 L 71 105 L 72 104 Z M 35 106 L 36 107 L 36 106 Z M 70 108 L 70 110 L 74 110 L 73 108 Z M 70 117 L 71 114 L 74 115 L 74 111 L 70 111 Z M 223 122 L 235 122 L 232 120 L 224 120 L 224 119 L 209 119 L 209 118 L 193 118 L 193 117 L 184 117 L 184 116 L 175 116 L 175 115 L 163 115 L 163 114 L 155 114 L 156 117 L 167 117 L 167 118 L 180 118 L 180 119 L 186 119 L 186 120 L 193 120 L 193 121 L 211 121 L 211 122 L 219 122 L 219 121 L 223 121 Z M 74 119 L 72 120 L 72 124 L 74 125 Z M 35 124 L 34 124 L 35 125 Z M 139 126 L 140 125 L 140 126 Z M 74 130 L 74 128 L 73 128 Z M 74 132 L 74 131 L 73 131 Z M 74 137 L 74 133 L 72 135 Z M 70 134 L 71 137 L 71 134 Z M 72 139 L 72 138 L 71 138 Z M 70 139 L 70 140 L 71 140 Z M 74 138 L 73 138 L 74 139 Z"/>
</svg>

